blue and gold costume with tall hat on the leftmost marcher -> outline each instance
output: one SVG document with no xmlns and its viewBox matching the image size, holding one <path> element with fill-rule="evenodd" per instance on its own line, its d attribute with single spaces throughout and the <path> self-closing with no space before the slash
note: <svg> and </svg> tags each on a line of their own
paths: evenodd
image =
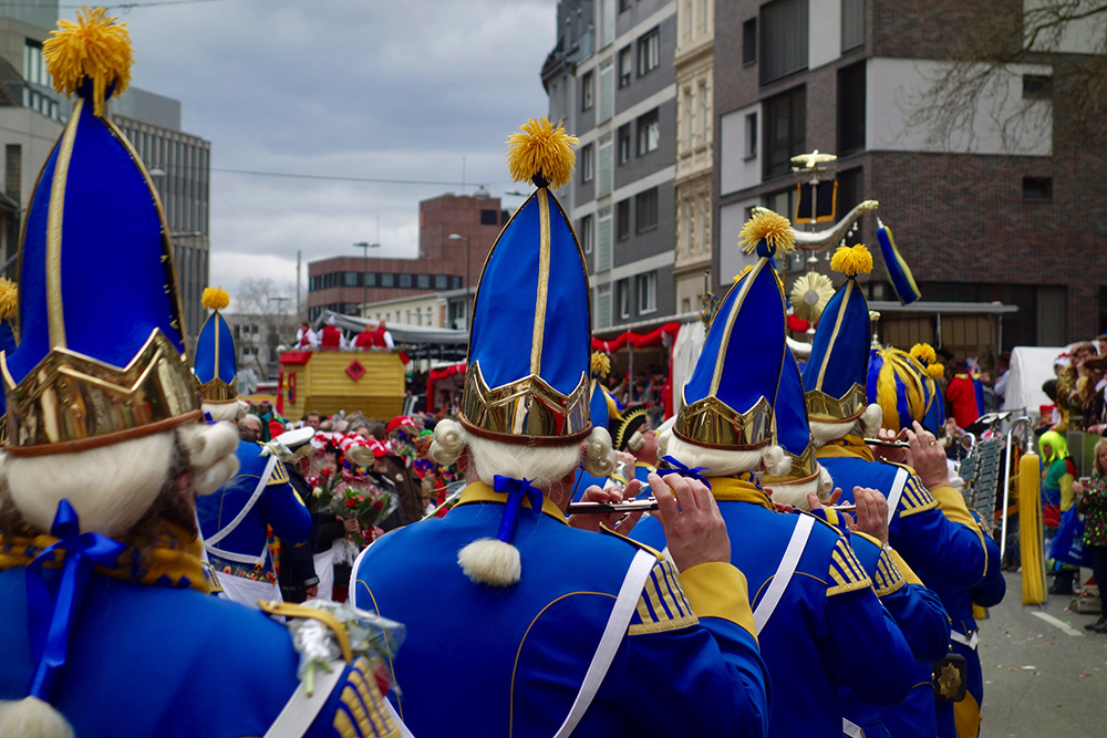
<svg viewBox="0 0 1107 738">
<path fill-rule="evenodd" d="M 59 92 L 75 90 L 79 100 L 21 238 L 23 341 L 0 358 L 13 430 L 6 465 L 71 470 L 74 503 L 13 476 L 2 492 L 0 734 L 25 735 L 2 725 L 12 719 L 45 735 L 37 728 L 46 716 L 77 736 L 261 736 L 298 694 L 299 656 L 283 626 L 209 596 L 190 492 L 178 490 L 185 477 L 173 471 L 174 444 L 198 438 L 217 444 L 209 453 L 229 453 L 228 434 L 196 427 L 203 414 L 169 227 L 145 166 L 104 116 L 106 98 L 130 80 L 131 42 L 114 20 L 103 9 L 79 11 L 79 23 L 62 21 L 43 44 Z M 158 496 L 161 480 L 147 481 L 145 507 L 127 508 L 120 500 L 137 498 L 138 482 L 113 489 L 111 478 L 99 487 L 90 479 L 112 474 L 121 457 L 131 461 L 135 447 L 122 446 L 136 439 L 162 441 L 142 446 L 166 449 L 143 462 L 161 465 L 170 484 Z M 186 454 L 184 461 L 204 464 Z M 95 459 L 107 459 L 103 469 Z M 21 502 L 31 498 L 51 501 L 52 523 Z M 364 668 L 343 662 L 301 735 L 395 735 Z M 20 711 L 27 723 L 12 717 Z"/>
</svg>

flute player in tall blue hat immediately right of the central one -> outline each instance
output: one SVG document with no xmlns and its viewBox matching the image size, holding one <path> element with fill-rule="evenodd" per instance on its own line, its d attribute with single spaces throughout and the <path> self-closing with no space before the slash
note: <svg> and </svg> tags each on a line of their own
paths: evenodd
<svg viewBox="0 0 1107 738">
<path fill-rule="evenodd" d="M 783 689 L 803 685 L 804 709 L 774 700 L 769 735 L 836 738 L 842 729 L 838 685 L 873 704 L 899 703 L 911 688 L 914 658 L 838 530 L 810 514 L 777 512 L 761 484 L 763 475 L 779 478 L 793 468 L 776 445 L 773 419 L 788 350 L 772 259 L 792 249 L 790 233 L 788 220 L 770 211 L 743 228 L 747 250 L 759 258 L 723 298 L 684 385 L 665 459 L 682 474 L 706 476 L 727 531 L 742 541 L 731 548 L 731 561 L 755 593 L 754 622 L 772 680 Z M 806 457 L 810 466 L 813 450 Z M 672 547 L 652 519 L 633 534 Z"/>
</svg>

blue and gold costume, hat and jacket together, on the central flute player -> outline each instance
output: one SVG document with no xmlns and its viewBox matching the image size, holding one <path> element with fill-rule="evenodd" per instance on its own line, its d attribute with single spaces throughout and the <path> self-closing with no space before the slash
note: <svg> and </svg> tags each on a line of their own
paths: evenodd
<svg viewBox="0 0 1107 738">
<path fill-rule="evenodd" d="M 458 418 L 503 457 L 520 449 L 520 475 L 527 446 L 579 456 L 596 397 L 588 274 L 550 191 L 568 181 L 570 142 L 545 118 L 524 131 L 511 137 L 513 174 L 538 189 L 480 276 Z M 544 158 L 551 150 L 557 160 Z M 531 154 L 538 163 L 521 166 Z M 466 443 L 479 469 L 483 447 Z M 765 734 L 767 674 L 741 572 L 714 562 L 677 574 L 622 537 L 569 527 L 568 500 L 526 479 L 469 481 L 445 518 L 390 532 L 354 564 L 355 604 L 407 628 L 395 703 L 414 735 L 555 735 L 604 653 L 613 661 L 575 736 Z M 505 565 L 486 567 L 490 551 Z M 612 620 L 622 603 L 625 625 Z M 607 632 L 610 649 L 599 647 Z"/>
</svg>

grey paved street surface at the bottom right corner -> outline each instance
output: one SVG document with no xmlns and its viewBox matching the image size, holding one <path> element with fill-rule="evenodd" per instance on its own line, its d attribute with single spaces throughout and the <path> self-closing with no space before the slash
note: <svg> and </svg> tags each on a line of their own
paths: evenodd
<svg viewBox="0 0 1107 738">
<path fill-rule="evenodd" d="M 1107 735 L 1107 635 L 1084 630 L 1095 616 L 1066 610 L 1070 597 L 1024 607 L 1021 575 L 1005 576 L 1007 596 L 981 624 L 981 736 Z"/>
</svg>

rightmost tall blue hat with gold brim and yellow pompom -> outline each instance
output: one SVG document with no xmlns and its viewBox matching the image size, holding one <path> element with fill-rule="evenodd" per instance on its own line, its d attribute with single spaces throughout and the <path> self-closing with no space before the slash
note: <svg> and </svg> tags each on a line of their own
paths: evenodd
<svg viewBox="0 0 1107 738">
<path fill-rule="evenodd" d="M 856 278 L 872 271 L 872 254 L 862 245 L 839 247 L 830 268 L 847 279 L 819 316 L 804 366 L 804 389 L 810 420 L 850 423 L 867 405 L 870 319 Z"/>
</svg>

